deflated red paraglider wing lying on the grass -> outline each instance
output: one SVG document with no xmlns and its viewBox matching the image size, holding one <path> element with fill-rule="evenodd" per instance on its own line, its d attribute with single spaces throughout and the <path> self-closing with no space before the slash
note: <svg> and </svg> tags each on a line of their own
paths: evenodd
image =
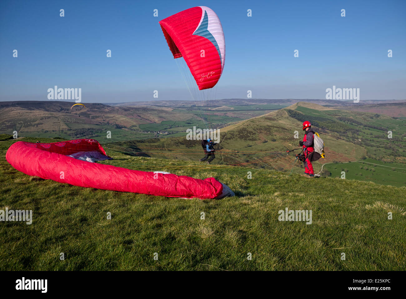
<svg viewBox="0 0 406 299">
<path fill-rule="evenodd" d="M 214 178 L 201 180 L 130 170 L 69 157 L 78 152 L 98 152 L 110 158 L 96 140 L 78 139 L 53 143 L 15 142 L 8 149 L 6 160 L 30 176 L 80 187 L 202 199 L 216 198 L 223 191 L 222 183 Z"/>
</svg>

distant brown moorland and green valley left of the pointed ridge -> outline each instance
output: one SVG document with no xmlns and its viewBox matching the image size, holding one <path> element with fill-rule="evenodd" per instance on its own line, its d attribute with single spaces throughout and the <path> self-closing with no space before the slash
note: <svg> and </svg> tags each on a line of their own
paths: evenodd
<svg viewBox="0 0 406 299">
<path fill-rule="evenodd" d="M 184 105 L 174 101 L 171 107 L 158 103 L 161 105 L 85 103 L 86 107 L 76 106 L 71 110 L 72 102 L 65 101 L 2 102 L 0 133 L 17 131 L 21 137 L 98 138 L 110 142 L 174 137 L 183 136 L 186 129 L 193 126 L 224 127 L 228 123 L 286 107 L 273 104 L 224 106 L 216 111 L 217 106 L 182 107 Z M 108 131 L 112 136 L 110 140 L 107 140 Z"/>
</svg>

